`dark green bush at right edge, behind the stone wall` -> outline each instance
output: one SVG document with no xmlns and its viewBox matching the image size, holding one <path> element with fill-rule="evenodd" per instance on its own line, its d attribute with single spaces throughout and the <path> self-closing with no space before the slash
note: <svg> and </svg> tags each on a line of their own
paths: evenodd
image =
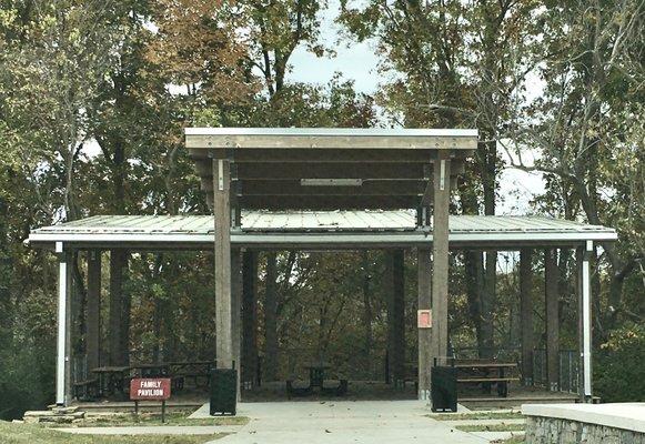
<svg viewBox="0 0 645 444">
<path fill-rule="evenodd" d="M 594 389 L 603 402 L 643 401 L 645 325 L 626 323 L 594 355 Z"/>
</svg>

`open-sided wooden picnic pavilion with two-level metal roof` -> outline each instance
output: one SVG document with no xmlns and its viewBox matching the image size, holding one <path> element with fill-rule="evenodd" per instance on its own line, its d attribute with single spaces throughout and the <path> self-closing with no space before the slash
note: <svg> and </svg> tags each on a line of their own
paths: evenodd
<svg viewBox="0 0 645 444">
<path fill-rule="evenodd" d="M 527 296 L 531 254 L 545 254 L 547 377 L 557 390 L 558 294 L 556 250 L 576 251 L 578 263 L 582 401 L 592 398 L 589 256 L 612 229 L 538 216 L 449 216 L 450 193 L 477 148 L 476 130 L 187 129 L 212 215 L 93 216 L 33 230 L 28 242 L 59 258 L 57 403 L 71 400 L 71 272 L 73 251 L 88 251 L 88 360 L 100 362 L 101 253 L 164 249 L 214 251 L 215 356 L 230 367 L 243 356 L 242 289 L 263 250 L 365 250 L 417 256 L 419 397 L 430 397 L 433 357 L 447 355 L 450 250 L 521 251 L 522 375 L 531 381 L 533 306 Z M 395 276 L 391 276 L 395 279 Z M 112 289 L 121 291 L 122 289 Z M 403 327 L 403 290 L 394 287 L 394 320 Z M 402 341 L 401 334 L 394 335 Z M 403 362 L 392 350 L 394 372 Z M 243 365 L 242 360 L 242 365 Z M 399 369 L 399 370 L 396 370 Z"/>
</svg>

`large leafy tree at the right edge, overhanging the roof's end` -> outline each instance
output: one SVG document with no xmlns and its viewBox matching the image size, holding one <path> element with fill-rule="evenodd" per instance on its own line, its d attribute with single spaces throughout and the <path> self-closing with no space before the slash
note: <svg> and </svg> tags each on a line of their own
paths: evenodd
<svg viewBox="0 0 645 444">
<path fill-rule="evenodd" d="M 602 245 L 612 270 L 608 310 L 603 310 L 609 327 L 624 309 L 625 278 L 645 256 L 639 234 L 644 11 L 643 1 L 629 0 L 550 4 L 547 63 L 540 69 L 545 91 L 504 141 L 516 168 L 547 174 L 548 192 L 563 203 L 547 210 L 619 230 L 617 245 Z M 534 164 L 522 155 L 526 148 L 542 154 Z M 597 326 L 605 336 L 602 322 Z"/>
</svg>

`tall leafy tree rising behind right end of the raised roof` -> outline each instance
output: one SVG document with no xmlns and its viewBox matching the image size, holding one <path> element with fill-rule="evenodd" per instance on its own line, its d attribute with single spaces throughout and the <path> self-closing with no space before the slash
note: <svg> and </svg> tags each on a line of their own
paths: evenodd
<svg viewBox="0 0 645 444">
<path fill-rule="evenodd" d="M 458 183 L 466 214 L 495 214 L 497 141 L 514 117 L 515 97 L 537 61 L 538 2 L 458 0 L 342 2 L 341 21 L 357 39 L 375 38 L 381 70 L 393 73 L 381 103 L 393 122 L 410 128 L 477 128 L 474 162 Z M 484 354 L 493 347 L 496 252 L 467 252 L 470 310 Z"/>
</svg>

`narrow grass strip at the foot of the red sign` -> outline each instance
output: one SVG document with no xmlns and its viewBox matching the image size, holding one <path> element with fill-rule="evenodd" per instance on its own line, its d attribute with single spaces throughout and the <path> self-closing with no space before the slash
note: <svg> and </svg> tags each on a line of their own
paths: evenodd
<svg viewBox="0 0 645 444">
<path fill-rule="evenodd" d="M 249 422 L 246 416 L 213 416 L 190 420 L 191 412 L 174 411 L 165 414 L 165 423 L 161 423 L 161 413 L 123 413 L 114 415 L 90 416 L 74 424 L 52 424 L 52 427 L 102 427 L 102 426 L 129 426 L 129 425 L 244 425 Z"/>
</svg>

